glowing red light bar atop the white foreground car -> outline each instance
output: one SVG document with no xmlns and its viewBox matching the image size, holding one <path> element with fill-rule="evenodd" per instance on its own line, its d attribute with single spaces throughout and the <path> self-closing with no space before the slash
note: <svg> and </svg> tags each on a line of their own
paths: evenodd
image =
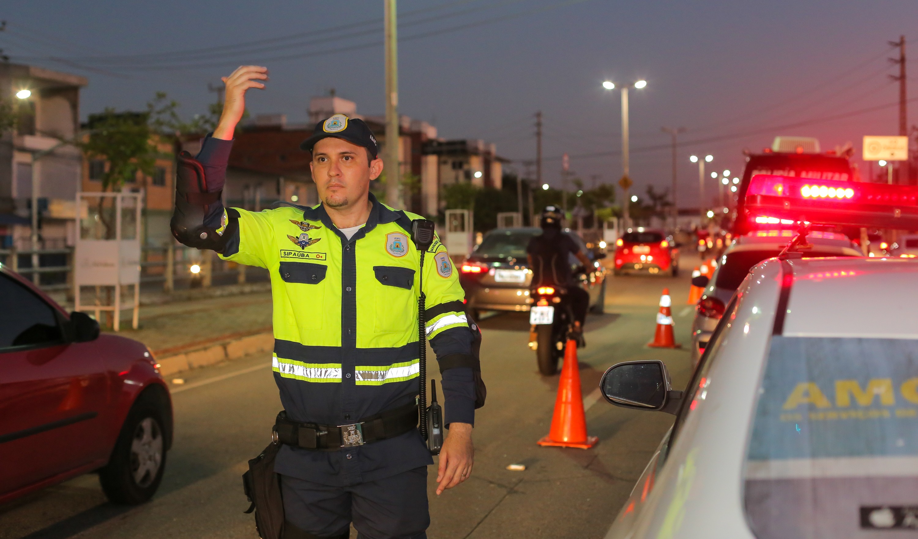
<svg viewBox="0 0 918 539">
<path fill-rule="evenodd" d="M 756 174 L 749 182 L 746 209 L 771 219 L 813 223 L 918 228 L 918 187 L 839 182 Z"/>
</svg>

